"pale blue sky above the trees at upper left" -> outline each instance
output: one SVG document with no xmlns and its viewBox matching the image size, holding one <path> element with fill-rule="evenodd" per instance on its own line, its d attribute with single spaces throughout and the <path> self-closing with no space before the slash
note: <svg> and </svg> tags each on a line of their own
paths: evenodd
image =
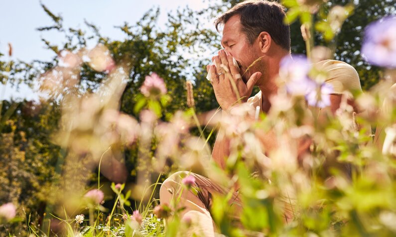
<svg viewBox="0 0 396 237">
<path fill-rule="evenodd" d="M 125 34 L 114 26 L 128 22 L 133 25 L 143 14 L 154 6 L 159 6 L 161 14 L 158 24 L 167 20 L 167 12 L 188 5 L 194 10 L 202 9 L 209 0 L 0 0 L 0 52 L 8 52 L 12 44 L 12 59 L 30 62 L 33 59 L 49 60 L 54 53 L 44 49 L 41 38 L 60 43 L 63 35 L 57 32 L 39 32 L 36 29 L 52 25 L 52 19 L 41 8 L 46 5 L 55 15 L 63 17 L 63 25 L 86 29 L 84 19 L 94 23 L 100 33 L 112 39 L 123 39 Z M 207 22 L 211 27 L 211 22 Z M 8 57 L 3 59 L 8 60 Z M 19 91 L 10 85 L 0 85 L 0 99 L 36 98 L 37 95 L 27 86 Z"/>
</svg>

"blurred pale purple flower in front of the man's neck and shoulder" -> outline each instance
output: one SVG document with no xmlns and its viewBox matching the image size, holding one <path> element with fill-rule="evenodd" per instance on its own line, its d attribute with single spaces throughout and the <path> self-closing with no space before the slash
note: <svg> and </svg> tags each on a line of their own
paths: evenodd
<svg viewBox="0 0 396 237">
<path fill-rule="evenodd" d="M 284 57 L 280 61 L 279 77 L 286 81 L 287 92 L 292 95 L 306 95 L 313 90 L 316 84 L 308 77 L 310 70 L 311 66 L 305 56 Z"/>
</svg>

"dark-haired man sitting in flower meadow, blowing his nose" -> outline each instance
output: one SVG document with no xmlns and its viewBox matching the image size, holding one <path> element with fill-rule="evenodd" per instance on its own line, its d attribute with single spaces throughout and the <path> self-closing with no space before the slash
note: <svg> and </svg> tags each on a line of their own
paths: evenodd
<svg viewBox="0 0 396 237">
<path fill-rule="evenodd" d="M 241 102 L 260 106 L 264 113 L 269 111 L 270 98 L 278 89 L 275 79 L 279 73 L 279 63 L 284 57 L 290 57 L 290 28 L 283 24 L 284 17 L 283 6 L 277 2 L 248 0 L 235 5 L 216 19 L 216 29 L 219 25 L 224 25 L 221 40 L 224 50 L 220 50 L 212 59 L 214 64 L 208 65 L 207 71 L 211 72 L 211 83 L 223 113 L 228 113 Z M 233 57 L 239 69 L 234 65 Z M 326 109 L 335 113 L 345 90 L 361 90 L 359 77 L 351 66 L 339 61 L 328 60 L 319 65 L 329 72 L 327 81 L 333 85 L 334 94 L 330 95 L 331 105 Z M 231 81 L 226 78 L 229 73 L 242 101 L 239 101 Z M 260 92 L 249 98 L 254 86 L 258 86 Z M 265 151 L 277 148 L 274 142 L 276 139 L 271 134 L 264 136 L 261 141 Z M 309 143 L 304 146 L 308 148 Z M 229 153 L 229 143 L 222 136 L 222 131 L 219 131 L 212 157 L 224 168 Z M 181 213 L 182 218 L 198 220 L 202 235 L 214 236 L 216 227 L 212 225 L 209 212 L 211 198 L 214 194 L 225 194 L 229 190 L 208 178 L 192 174 L 199 191 L 175 194 L 180 190 L 180 177 L 187 173 L 176 172 L 164 181 L 160 189 L 160 202 L 169 204 L 174 196 L 180 195 L 180 203 L 185 207 Z M 230 203 L 240 202 L 238 195 L 238 192 L 233 192 Z M 290 217 L 285 218 L 287 220 Z"/>
</svg>

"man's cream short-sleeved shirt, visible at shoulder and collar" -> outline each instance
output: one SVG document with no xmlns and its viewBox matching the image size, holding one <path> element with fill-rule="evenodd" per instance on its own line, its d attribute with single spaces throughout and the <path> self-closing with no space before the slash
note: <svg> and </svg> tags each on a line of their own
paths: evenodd
<svg viewBox="0 0 396 237">
<path fill-rule="evenodd" d="M 349 64 L 337 60 L 324 60 L 312 64 L 316 70 L 326 75 L 325 82 L 333 86 L 333 94 L 342 94 L 344 92 L 362 91 L 359 75 L 356 70 Z M 247 103 L 256 108 L 260 106 L 261 91 L 250 97 Z"/>
</svg>

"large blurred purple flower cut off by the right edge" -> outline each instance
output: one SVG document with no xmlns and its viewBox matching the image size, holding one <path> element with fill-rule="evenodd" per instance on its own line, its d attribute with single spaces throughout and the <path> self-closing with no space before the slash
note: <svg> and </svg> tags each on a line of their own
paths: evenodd
<svg viewBox="0 0 396 237">
<path fill-rule="evenodd" d="M 396 68 L 396 16 L 384 17 L 367 26 L 362 55 L 373 65 Z"/>
</svg>

